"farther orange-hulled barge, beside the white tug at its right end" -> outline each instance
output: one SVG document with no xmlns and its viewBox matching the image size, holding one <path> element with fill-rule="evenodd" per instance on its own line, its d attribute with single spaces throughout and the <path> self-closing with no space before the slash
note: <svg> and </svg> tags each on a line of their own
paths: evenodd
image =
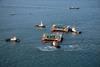
<svg viewBox="0 0 100 67">
<path fill-rule="evenodd" d="M 52 32 L 68 32 L 67 26 L 53 24 L 51 27 Z"/>
</svg>

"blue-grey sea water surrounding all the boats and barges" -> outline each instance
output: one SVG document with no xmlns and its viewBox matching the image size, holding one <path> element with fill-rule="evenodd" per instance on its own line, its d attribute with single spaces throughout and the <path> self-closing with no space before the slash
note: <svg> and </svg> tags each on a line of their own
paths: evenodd
<svg viewBox="0 0 100 67">
<path fill-rule="evenodd" d="M 47 28 L 38 30 L 41 20 Z M 54 23 L 82 34 L 65 33 L 61 49 L 51 48 L 41 36 Z M 99 25 L 99 0 L 0 0 L 0 67 L 100 67 Z M 5 42 L 12 35 L 21 42 Z"/>
</svg>

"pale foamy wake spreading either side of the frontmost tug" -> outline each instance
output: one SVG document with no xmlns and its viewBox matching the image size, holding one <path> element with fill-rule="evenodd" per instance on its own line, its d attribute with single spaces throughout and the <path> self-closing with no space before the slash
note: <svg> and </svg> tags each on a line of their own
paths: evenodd
<svg viewBox="0 0 100 67">
<path fill-rule="evenodd" d="M 55 51 L 58 48 L 55 48 L 53 46 L 42 46 L 42 47 L 37 47 L 40 51 Z M 81 51 L 83 48 L 79 45 L 61 45 L 61 48 L 58 50 L 63 50 L 63 51 Z"/>
</svg>

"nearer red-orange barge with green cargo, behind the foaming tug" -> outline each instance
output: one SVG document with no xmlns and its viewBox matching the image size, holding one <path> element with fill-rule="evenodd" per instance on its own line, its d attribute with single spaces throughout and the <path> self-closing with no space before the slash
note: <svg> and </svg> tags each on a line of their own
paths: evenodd
<svg viewBox="0 0 100 67">
<path fill-rule="evenodd" d="M 62 34 L 58 34 L 58 33 L 56 33 L 56 34 L 54 34 L 54 33 L 52 33 L 52 34 L 43 34 L 43 36 L 42 36 L 42 41 L 43 42 L 53 42 L 53 41 L 55 41 L 55 42 L 62 42 L 62 40 L 63 40 L 63 36 L 62 36 Z"/>
</svg>

